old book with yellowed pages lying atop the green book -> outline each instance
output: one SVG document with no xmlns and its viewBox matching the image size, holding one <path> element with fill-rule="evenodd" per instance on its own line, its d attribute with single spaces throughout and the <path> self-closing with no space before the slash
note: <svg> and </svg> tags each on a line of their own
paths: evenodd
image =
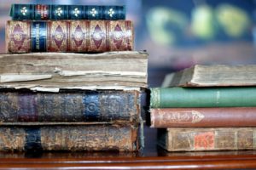
<svg viewBox="0 0 256 170">
<path fill-rule="evenodd" d="M 194 65 L 166 75 L 162 87 L 255 86 L 256 65 Z"/>
</svg>

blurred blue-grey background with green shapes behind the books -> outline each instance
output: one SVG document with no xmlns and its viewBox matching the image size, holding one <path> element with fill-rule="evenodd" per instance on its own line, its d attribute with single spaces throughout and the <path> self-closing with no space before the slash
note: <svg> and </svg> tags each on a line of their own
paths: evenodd
<svg viewBox="0 0 256 170">
<path fill-rule="evenodd" d="M 256 0 L 0 0 L 0 53 L 12 3 L 125 5 L 135 49 L 149 54 L 150 87 L 195 64 L 256 64 Z"/>
</svg>

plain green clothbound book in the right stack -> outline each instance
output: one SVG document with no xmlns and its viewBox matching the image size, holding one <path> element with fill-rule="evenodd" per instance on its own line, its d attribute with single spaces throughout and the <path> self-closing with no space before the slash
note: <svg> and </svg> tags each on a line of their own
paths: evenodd
<svg viewBox="0 0 256 170">
<path fill-rule="evenodd" d="M 255 107 L 256 87 L 151 88 L 151 108 Z"/>
</svg>

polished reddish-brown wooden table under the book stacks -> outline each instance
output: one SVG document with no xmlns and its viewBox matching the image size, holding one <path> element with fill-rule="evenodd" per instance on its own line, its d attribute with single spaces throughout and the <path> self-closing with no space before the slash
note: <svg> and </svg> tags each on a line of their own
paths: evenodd
<svg viewBox="0 0 256 170">
<path fill-rule="evenodd" d="M 166 152 L 156 146 L 155 129 L 145 127 L 140 153 L 0 153 L 0 168 L 26 169 L 256 169 L 256 150 Z"/>
</svg>

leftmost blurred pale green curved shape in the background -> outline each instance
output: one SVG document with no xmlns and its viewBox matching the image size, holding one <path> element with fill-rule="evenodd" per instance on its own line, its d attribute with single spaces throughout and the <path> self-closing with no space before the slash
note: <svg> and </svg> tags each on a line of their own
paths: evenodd
<svg viewBox="0 0 256 170">
<path fill-rule="evenodd" d="M 189 21 L 185 14 L 172 8 L 151 8 L 146 15 L 146 21 L 150 37 L 161 45 L 172 45 L 177 42 L 177 32 L 167 29 L 167 26 L 175 26 L 183 31 Z"/>
</svg>

